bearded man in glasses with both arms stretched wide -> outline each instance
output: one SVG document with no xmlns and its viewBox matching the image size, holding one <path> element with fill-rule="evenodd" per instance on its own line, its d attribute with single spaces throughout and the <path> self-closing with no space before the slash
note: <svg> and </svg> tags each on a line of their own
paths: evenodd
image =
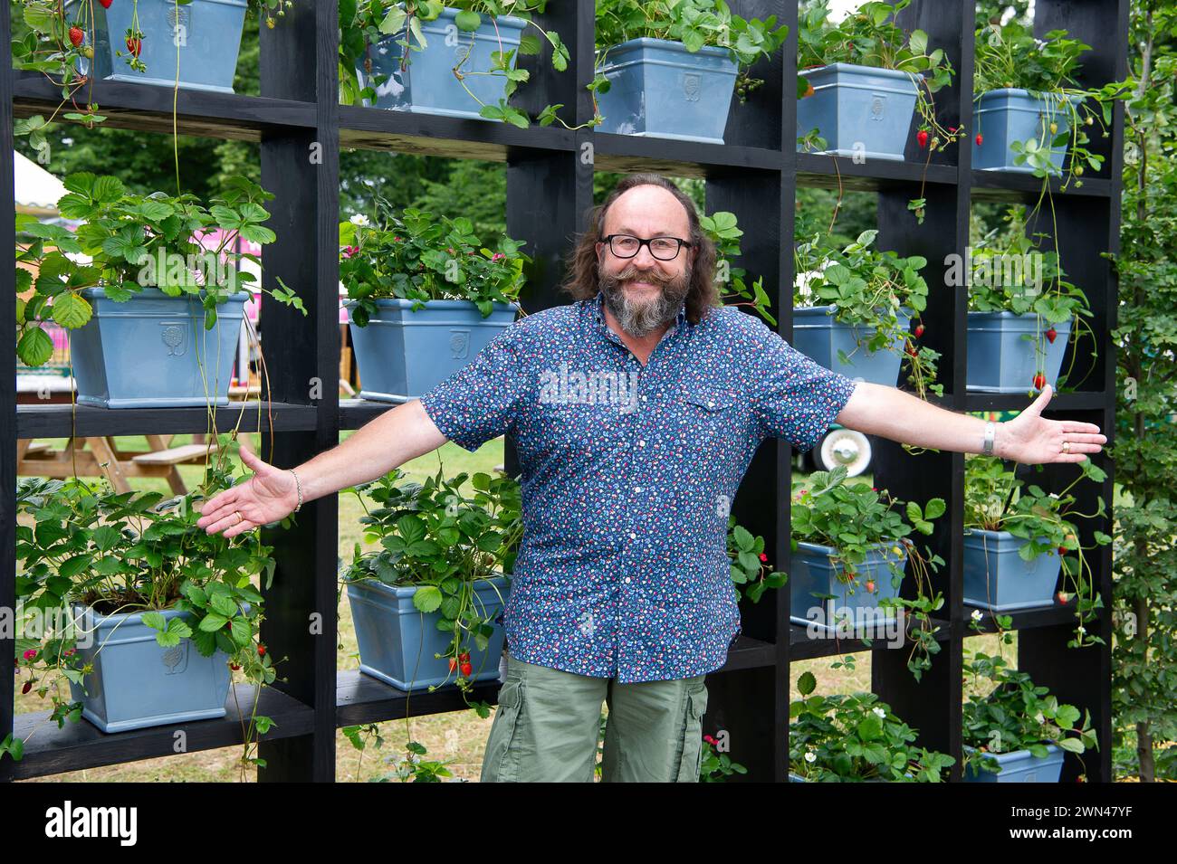
<svg viewBox="0 0 1177 864">
<path fill-rule="evenodd" d="M 211 498 L 226 537 L 383 476 L 452 440 L 511 431 L 524 536 L 504 611 L 507 675 L 484 781 L 697 782 L 704 678 L 739 632 L 727 515 L 767 437 L 812 447 L 831 422 L 1023 463 L 1077 462 L 1106 438 L 1042 417 L 986 423 L 838 375 L 759 319 L 718 307 L 714 246 L 669 180 L 629 175 L 572 256 L 574 302 L 527 315 L 419 400 L 294 471 L 241 447 L 251 481 Z"/>
</svg>

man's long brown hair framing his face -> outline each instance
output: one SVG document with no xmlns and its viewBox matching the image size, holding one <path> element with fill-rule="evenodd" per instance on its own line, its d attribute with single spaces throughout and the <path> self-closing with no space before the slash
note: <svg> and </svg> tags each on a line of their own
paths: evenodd
<svg viewBox="0 0 1177 864">
<path fill-rule="evenodd" d="M 598 284 L 600 274 L 597 269 L 599 262 L 596 245 L 605 234 L 605 213 L 618 196 L 634 186 L 661 187 L 678 199 L 678 202 L 686 209 L 686 217 L 691 226 L 690 240 L 694 243 L 693 248 L 698 249 L 685 300 L 686 316 L 691 323 L 697 324 L 710 307 L 719 306 L 719 292 L 714 284 L 716 245 L 699 226 L 699 213 L 694 208 L 694 201 L 661 174 L 626 174 L 609 193 L 605 201 L 588 212 L 586 230 L 580 235 L 568 259 L 568 276 L 560 288 L 568 292 L 573 300 L 592 300 L 597 296 L 597 292 L 600 289 Z"/>
</svg>

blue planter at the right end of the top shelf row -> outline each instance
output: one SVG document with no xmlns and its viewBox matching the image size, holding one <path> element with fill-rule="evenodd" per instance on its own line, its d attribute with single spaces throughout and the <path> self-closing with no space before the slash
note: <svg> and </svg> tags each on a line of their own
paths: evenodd
<svg viewBox="0 0 1177 864">
<path fill-rule="evenodd" d="M 1072 102 L 1080 98 L 1068 96 Z M 1050 123 L 1058 126 L 1058 132 L 1050 132 Z M 1032 96 L 1029 91 L 1003 87 L 983 93 L 972 105 L 972 167 L 977 170 L 1009 170 L 1019 174 L 1031 174 L 1029 165 L 1015 165 L 1017 155 L 1010 145 L 1013 141 L 1033 139 L 1039 146 L 1046 147 L 1056 135 L 1071 128 L 1071 112 L 1065 105 L 1051 103 L 1044 96 Z M 980 145 L 977 134 L 980 133 Z M 1050 152 L 1055 173 L 1063 170 L 1063 159 L 1066 147 L 1053 147 Z"/>
</svg>

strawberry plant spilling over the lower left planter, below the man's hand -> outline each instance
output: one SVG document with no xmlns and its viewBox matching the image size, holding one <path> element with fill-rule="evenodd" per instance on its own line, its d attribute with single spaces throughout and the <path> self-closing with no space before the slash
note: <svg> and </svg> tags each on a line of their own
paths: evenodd
<svg viewBox="0 0 1177 864">
<path fill-rule="evenodd" d="M 271 588 L 272 548 L 255 534 L 226 540 L 195 524 L 194 504 L 231 484 L 220 463 L 206 467 L 198 489 L 167 500 L 155 491 L 115 494 L 105 480 L 97 485 L 77 477 L 20 480 L 16 665 L 25 691 L 53 702 L 51 718 L 59 728 L 81 717 L 66 682 L 87 688 L 93 667 L 81 662 L 78 649 L 87 647 L 80 637 L 88 637 L 93 612 L 142 612 L 165 649 L 188 639 L 205 657 L 224 651 L 232 670 L 257 685 L 255 695 L 274 682 L 275 661 L 259 641 L 265 601 L 253 584 L 257 578 Z M 160 611 L 167 609 L 187 615 L 165 618 Z M 252 708 L 238 706 L 250 718 L 242 772 L 265 764 L 254 756 L 257 735 L 272 719 L 257 706 L 257 699 Z M 8 752 L 19 756 L 11 746 Z"/>
</svg>

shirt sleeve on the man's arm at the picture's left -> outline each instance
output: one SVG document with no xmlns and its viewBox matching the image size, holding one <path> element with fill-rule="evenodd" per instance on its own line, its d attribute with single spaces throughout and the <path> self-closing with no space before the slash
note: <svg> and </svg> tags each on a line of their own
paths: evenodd
<svg viewBox="0 0 1177 864">
<path fill-rule="evenodd" d="M 420 396 L 438 430 L 473 453 L 514 423 L 526 380 L 519 323 L 506 327 L 474 359 Z"/>
</svg>

